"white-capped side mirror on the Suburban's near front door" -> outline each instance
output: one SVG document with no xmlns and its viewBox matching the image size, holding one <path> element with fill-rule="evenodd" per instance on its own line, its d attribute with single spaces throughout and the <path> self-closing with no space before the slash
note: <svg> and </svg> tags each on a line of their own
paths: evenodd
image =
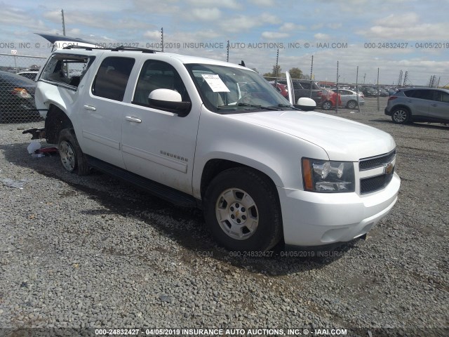
<svg viewBox="0 0 449 337">
<path fill-rule="evenodd" d="M 179 117 L 189 114 L 192 103 L 182 102 L 180 93 L 170 89 L 156 89 L 149 93 L 148 103 L 150 107 L 173 112 Z"/>
</svg>

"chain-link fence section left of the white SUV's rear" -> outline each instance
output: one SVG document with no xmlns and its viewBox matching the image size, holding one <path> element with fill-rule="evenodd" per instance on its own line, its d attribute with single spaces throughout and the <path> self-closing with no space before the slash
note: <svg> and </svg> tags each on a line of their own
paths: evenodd
<svg viewBox="0 0 449 337">
<path fill-rule="evenodd" d="M 41 120 L 34 103 L 34 79 L 46 59 L 0 53 L 0 123 Z"/>
</svg>

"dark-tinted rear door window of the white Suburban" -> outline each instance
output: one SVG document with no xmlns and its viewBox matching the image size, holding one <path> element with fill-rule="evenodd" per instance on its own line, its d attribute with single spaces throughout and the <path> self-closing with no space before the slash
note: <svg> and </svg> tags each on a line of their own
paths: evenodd
<svg viewBox="0 0 449 337">
<path fill-rule="evenodd" d="M 110 100 L 123 100 L 134 63 L 133 58 L 105 58 L 93 81 L 93 95 Z"/>
</svg>

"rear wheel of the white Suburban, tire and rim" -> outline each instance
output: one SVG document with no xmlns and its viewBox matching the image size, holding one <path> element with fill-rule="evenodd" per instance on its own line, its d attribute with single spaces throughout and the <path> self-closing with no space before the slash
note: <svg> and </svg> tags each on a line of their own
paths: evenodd
<svg viewBox="0 0 449 337">
<path fill-rule="evenodd" d="M 89 173 L 87 159 L 79 147 L 73 128 L 65 128 L 59 134 L 58 149 L 64 169 L 78 176 Z"/>
</svg>

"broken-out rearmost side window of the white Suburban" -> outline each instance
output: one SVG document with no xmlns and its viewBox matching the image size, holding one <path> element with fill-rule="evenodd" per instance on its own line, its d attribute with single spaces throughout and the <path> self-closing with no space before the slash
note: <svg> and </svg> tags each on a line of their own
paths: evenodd
<svg viewBox="0 0 449 337">
<path fill-rule="evenodd" d="M 54 54 L 45 65 L 39 79 L 78 87 L 91 66 L 94 56 Z"/>
</svg>

